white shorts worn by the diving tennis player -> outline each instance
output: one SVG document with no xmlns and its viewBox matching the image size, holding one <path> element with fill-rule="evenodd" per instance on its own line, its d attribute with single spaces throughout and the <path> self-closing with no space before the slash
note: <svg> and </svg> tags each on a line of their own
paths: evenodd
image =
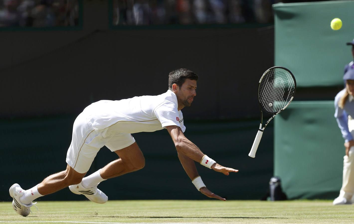
<svg viewBox="0 0 354 224">
<path fill-rule="evenodd" d="M 74 122 L 73 137 L 66 158 L 67 164 L 76 172 L 86 173 L 97 152 L 104 145 L 114 152 L 135 142 L 133 136 L 128 133 L 103 136 L 104 132 L 104 130 L 95 130 L 85 113 L 80 113 Z"/>
</svg>

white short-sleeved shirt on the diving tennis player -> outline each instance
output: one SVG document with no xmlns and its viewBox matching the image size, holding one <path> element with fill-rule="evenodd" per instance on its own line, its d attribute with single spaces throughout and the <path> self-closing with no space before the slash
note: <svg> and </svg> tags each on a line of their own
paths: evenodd
<svg viewBox="0 0 354 224">
<path fill-rule="evenodd" d="M 135 96 L 124 100 L 100 100 L 84 110 L 87 122 L 104 136 L 115 133 L 152 132 L 176 125 L 185 131 L 183 115 L 177 110 L 177 96 L 171 90 L 157 96 Z"/>
</svg>

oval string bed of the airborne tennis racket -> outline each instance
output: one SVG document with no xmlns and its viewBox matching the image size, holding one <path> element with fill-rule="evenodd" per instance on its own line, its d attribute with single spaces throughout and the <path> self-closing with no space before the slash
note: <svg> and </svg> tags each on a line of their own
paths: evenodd
<svg viewBox="0 0 354 224">
<path fill-rule="evenodd" d="M 268 112 L 277 112 L 289 104 L 295 93 L 292 75 L 281 68 L 270 69 L 259 84 L 259 101 Z"/>
</svg>

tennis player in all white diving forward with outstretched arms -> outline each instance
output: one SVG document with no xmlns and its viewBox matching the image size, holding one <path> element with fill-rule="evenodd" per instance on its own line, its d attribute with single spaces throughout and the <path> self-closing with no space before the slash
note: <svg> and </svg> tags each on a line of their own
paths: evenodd
<svg viewBox="0 0 354 224">
<path fill-rule="evenodd" d="M 108 197 L 97 188 L 100 182 L 140 170 L 145 165 L 143 153 L 131 134 L 164 128 L 175 143 L 178 158 L 197 190 L 209 198 L 225 201 L 206 188 L 194 161 L 224 175 L 238 170 L 217 164 L 183 134 L 185 126 L 181 110 L 192 104 L 197 80 L 198 75 L 193 71 L 178 69 L 169 73 L 169 90 L 166 93 L 116 101 L 101 100 L 86 107 L 74 122 L 66 170 L 46 177 L 28 190 L 13 184 L 9 190 L 13 209 L 22 216 L 28 216 L 33 200 L 68 186 L 73 193 L 83 194 L 93 202 L 107 202 Z M 84 178 L 103 146 L 115 152 L 119 159 Z"/>
</svg>

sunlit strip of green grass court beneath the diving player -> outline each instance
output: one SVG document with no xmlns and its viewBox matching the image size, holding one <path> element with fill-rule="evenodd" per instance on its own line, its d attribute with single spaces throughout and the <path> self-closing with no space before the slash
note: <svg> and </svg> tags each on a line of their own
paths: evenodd
<svg viewBox="0 0 354 224">
<path fill-rule="evenodd" d="M 353 223 L 352 205 L 328 200 L 296 201 L 40 201 L 28 217 L 0 202 L 0 224 L 8 223 Z"/>
</svg>

